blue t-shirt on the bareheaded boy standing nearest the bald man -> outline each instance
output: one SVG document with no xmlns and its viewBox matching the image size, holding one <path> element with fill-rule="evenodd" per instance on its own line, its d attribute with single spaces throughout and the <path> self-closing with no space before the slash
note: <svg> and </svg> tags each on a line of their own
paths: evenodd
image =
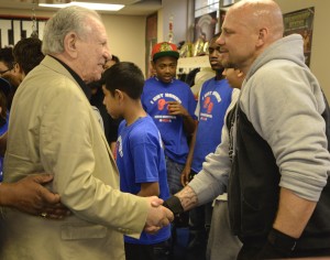
<svg viewBox="0 0 330 260">
<path fill-rule="evenodd" d="M 216 77 L 204 83 L 195 115 L 198 117 L 196 143 L 191 169 L 201 171 L 205 158 L 216 151 L 221 142 L 223 118 L 231 102 L 232 88 L 227 79 L 216 80 Z"/>
</svg>

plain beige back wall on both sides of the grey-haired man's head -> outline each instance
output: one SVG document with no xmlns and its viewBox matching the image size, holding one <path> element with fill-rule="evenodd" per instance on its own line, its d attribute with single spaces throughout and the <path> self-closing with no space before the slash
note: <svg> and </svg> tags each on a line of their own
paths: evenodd
<svg viewBox="0 0 330 260">
<path fill-rule="evenodd" d="M 0 10 L 0 14 L 14 17 L 31 17 L 30 10 Z M 36 11 L 36 17 L 50 18 L 54 12 Z M 135 63 L 145 71 L 145 18 L 131 15 L 102 14 L 102 20 L 109 36 L 111 53 L 121 61 Z"/>
</svg>

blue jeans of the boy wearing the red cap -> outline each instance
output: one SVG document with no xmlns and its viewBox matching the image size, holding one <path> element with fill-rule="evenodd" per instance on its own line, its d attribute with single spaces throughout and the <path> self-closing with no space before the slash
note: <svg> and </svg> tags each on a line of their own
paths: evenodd
<svg viewBox="0 0 330 260">
<path fill-rule="evenodd" d="M 184 171 L 184 164 L 176 163 L 166 156 L 167 183 L 170 195 L 176 194 L 184 187 L 182 184 L 182 172 Z"/>
</svg>

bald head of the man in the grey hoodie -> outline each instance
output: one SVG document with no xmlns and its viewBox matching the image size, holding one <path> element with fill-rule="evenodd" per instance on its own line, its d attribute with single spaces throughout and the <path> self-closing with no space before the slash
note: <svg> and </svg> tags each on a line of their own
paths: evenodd
<svg viewBox="0 0 330 260">
<path fill-rule="evenodd" d="M 240 68 L 246 74 L 257 56 L 283 37 L 283 15 L 276 2 L 239 1 L 228 10 L 217 40 L 223 66 Z"/>
</svg>

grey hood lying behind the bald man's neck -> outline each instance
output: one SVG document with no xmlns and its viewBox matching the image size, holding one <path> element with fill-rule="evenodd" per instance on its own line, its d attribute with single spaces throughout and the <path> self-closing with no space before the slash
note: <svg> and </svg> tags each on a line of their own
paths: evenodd
<svg viewBox="0 0 330 260">
<path fill-rule="evenodd" d="M 246 80 L 266 63 L 274 59 L 288 59 L 307 67 L 304 56 L 304 41 L 300 34 L 290 34 L 271 44 L 252 64 Z"/>
</svg>

